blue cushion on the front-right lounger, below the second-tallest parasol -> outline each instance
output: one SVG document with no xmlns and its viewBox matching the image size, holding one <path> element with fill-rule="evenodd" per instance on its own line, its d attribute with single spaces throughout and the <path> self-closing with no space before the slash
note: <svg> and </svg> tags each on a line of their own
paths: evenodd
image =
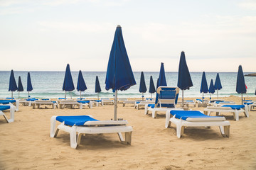
<svg viewBox="0 0 256 170">
<path fill-rule="evenodd" d="M 209 116 L 201 113 L 200 111 L 170 111 L 171 115 L 175 118 L 186 120 L 187 118 L 214 118 L 218 116 Z"/>
</svg>

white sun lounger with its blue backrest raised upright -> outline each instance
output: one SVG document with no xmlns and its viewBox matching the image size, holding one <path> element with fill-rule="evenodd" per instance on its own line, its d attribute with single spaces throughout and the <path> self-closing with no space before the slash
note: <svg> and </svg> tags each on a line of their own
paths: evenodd
<svg viewBox="0 0 256 170">
<path fill-rule="evenodd" d="M 159 86 L 156 91 L 155 104 L 147 104 L 145 106 L 145 115 L 152 112 L 152 118 L 156 118 L 156 113 L 164 112 L 169 110 L 183 110 L 176 108 L 178 101 L 178 87 Z"/>
</svg>

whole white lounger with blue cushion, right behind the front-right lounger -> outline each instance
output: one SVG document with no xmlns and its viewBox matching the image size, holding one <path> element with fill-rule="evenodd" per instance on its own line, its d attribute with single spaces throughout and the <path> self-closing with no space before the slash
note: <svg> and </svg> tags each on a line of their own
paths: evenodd
<svg viewBox="0 0 256 170">
<path fill-rule="evenodd" d="M 216 115 L 219 115 L 219 113 L 233 113 L 234 119 L 237 121 L 239 120 L 239 113 L 244 113 L 246 117 L 249 117 L 248 108 L 245 105 L 208 106 L 203 111 L 207 112 L 207 115 L 212 112 L 216 112 Z"/>
</svg>

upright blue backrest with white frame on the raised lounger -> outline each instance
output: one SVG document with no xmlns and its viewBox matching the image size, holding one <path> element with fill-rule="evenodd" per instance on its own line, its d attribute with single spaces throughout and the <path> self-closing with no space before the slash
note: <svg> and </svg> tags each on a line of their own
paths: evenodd
<svg viewBox="0 0 256 170">
<path fill-rule="evenodd" d="M 156 91 L 156 106 L 175 108 L 178 92 L 177 87 L 159 86 Z"/>
</svg>

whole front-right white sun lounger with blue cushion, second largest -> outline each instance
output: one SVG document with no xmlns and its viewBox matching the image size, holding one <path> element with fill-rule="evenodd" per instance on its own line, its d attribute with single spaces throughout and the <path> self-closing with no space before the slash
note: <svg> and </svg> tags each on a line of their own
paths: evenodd
<svg viewBox="0 0 256 170">
<path fill-rule="evenodd" d="M 171 115 L 173 116 L 172 118 Z M 230 122 L 224 117 L 204 115 L 200 111 L 167 111 L 166 128 L 176 124 L 176 135 L 180 138 L 185 127 L 210 127 L 218 126 L 223 137 L 230 135 Z"/>
</svg>

